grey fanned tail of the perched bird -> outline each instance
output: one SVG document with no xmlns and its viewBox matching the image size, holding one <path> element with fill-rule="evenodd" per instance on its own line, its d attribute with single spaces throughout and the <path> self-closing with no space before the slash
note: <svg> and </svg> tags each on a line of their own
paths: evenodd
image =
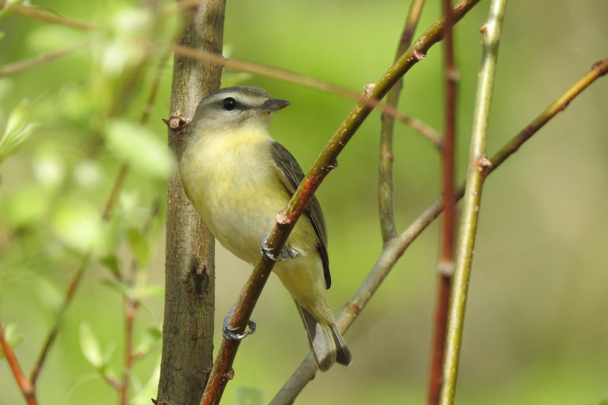
<svg viewBox="0 0 608 405">
<path fill-rule="evenodd" d="M 350 365 L 353 358 L 336 325 L 322 325 L 302 305 L 297 302 L 295 302 L 295 305 L 302 318 L 310 351 L 313 353 L 314 361 L 316 361 L 319 370 L 329 370 L 334 362 L 344 364 L 344 366 Z"/>
</svg>

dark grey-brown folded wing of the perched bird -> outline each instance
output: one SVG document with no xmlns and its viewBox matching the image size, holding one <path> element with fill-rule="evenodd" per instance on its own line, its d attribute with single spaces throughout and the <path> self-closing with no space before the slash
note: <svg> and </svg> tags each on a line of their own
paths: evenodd
<svg viewBox="0 0 608 405">
<path fill-rule="evenodd" d="M 298 162 L 293 155 L 278 142 L 272 143 L 272 159 L 274 160 L 279 177 L 283 180 L 283 184 L 285 184 L 285 188 L 288 189 L 290 194 L 294 194 L 295 189 L 304 179 L 302 168 L 300 168 L 300 165 L 298 165 Z M 323 262 L 325 287 L 330 288 L 331 276 L 330 259 L 327 256 L 327 229 L 325 227 L 323 211 L 321 211 L 321 205 L 319 204 L 317 197 L 313 196 L 313 198 L 310 199 L 308 205 L 304 209 L 304 214 L 308 217 L 310 222 L 313 223 L 314 231 L 317 233 L 317 237 L 319 237 L 317 250 L 319 251 Z"/>
</svg>

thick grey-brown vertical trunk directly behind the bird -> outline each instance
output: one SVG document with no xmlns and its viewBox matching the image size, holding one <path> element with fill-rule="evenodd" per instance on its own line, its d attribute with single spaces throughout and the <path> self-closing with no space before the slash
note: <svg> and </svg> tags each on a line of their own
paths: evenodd
<svg viewBox="0 0 608 405">
<path fill-rule="evenodd" d="M 225 2 L 203 0 L 179 9 L 184 24 L 179 45 L 221 54 Z M 175 55 L 170 117 L 182 123 L 191 118 L 203 95 L 219 87 L 220 77 L 221 66 Z M 178 162 L 185 136 L 183 125 L 168 132 L 168 145 Z M 165 315 L 157 403 L 198 403 L 206 386 L 213 359 L 213 243 L 174 168 L 167 191 Z"/>
</svg>

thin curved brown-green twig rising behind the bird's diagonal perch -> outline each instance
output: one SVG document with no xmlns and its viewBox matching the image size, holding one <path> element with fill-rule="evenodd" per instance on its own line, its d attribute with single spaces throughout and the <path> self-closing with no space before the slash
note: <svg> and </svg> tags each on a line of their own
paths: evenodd
<svg viewBox="0 0 608 405">
<path fill-rule="evenodd" d="M 406 25 L 403 27 L 395 60 L 398 60 L 412 44 L 412 36 L 422 8 L 424 0 L 415 0 L 410 4 L 407 13 Z M 396 109 L 403 85 L 402 78 L 397 81 L 395 86 L 390 89 L 386 96 L 386 105 Z M 380 216 L 380 230 L 382 231 L 382 242 L 397 236 L 395 226 L 395 215 L 393 214 L 393 129 L 395 128 L 395 118 L 385 112 L 380 117 L 380 157 L 378 162 L 378 211 Z"/>
</svg>

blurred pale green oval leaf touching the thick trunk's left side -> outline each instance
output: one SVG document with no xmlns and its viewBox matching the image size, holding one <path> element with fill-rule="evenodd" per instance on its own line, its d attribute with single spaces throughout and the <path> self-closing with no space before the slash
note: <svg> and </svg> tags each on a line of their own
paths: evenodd
<svg viewBox="0 0 608 405">
<path fill-rule="evenodd" d="M 134 168 L 159 179 L 167 177 L 167 145 L 150 129 L 128 120 L 115 120 L 108 126 L 106 139 L 109 149 Z"/>
</svg>

